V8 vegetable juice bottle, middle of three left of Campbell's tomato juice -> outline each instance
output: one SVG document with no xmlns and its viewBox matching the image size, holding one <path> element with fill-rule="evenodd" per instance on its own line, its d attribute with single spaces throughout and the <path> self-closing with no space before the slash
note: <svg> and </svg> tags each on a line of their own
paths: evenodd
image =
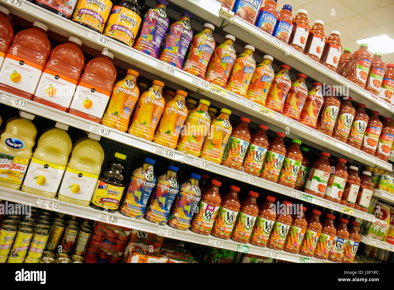
<svg viewBox="0 0 394 290">
<path fill-rule="evenodd" d="M 344 97 L 344 100 L 339 107 L 338 118 L 335 123 L 333 138 L 346 143 L 349 138 L 350 127 L 353 124 L 356 110 L 351 104 L 351 97 Z"/>
</svg>

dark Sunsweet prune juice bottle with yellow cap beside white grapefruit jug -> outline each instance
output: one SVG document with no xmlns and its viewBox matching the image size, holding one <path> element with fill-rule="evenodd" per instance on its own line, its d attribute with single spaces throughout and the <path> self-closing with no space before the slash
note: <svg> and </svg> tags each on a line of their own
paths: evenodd
<svg viewBox="0 0 394 290">
<path fill-rule="evenodd" d="M 108 163 L 97 180 L 90 200 L 91 207 L 108 212 L 118 210 L 126 187 L 125 160 L 125 154 L 115 152 L 115 158 Z"/>
</svg>

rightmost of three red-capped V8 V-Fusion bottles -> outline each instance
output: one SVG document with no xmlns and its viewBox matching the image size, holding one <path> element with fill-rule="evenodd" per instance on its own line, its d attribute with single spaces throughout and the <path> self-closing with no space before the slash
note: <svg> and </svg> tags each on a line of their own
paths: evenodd
<svg viewBox="0 0 394 290">
<path fill-rule="evenodd" d="M 314 82 L 312 90 L 309 90 L 307 100 L 301 110 L 299 122 L 316 129 L 320 109 L 322 109 L 324 98 L 322 95 L 322 84 Z M 335 121 L 334 121 L 335 123 Z"/>
</svg>

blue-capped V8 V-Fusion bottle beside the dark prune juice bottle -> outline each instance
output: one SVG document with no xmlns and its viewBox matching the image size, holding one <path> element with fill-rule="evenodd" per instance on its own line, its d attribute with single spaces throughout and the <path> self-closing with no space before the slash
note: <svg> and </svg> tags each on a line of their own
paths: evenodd
<svg viewBox="0 0 394 290">
<path fill-rule="evenodd" d="M 156 160 L 146 157 L 141 167 L 133 171 L 120 212 L 134 219 L 142 219 L 152 189 L 156 184 L 153 165 Z"/>
</svg>

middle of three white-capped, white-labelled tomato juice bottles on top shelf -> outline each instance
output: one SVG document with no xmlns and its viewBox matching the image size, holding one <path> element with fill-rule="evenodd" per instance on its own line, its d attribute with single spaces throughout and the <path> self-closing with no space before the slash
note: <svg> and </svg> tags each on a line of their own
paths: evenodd
<svg viewBox="0 0 394 290">
<path fill-rule="evenodd" d="M 316 20 L 309 30 L 309 36 L 305 45 L 304 54 L 320 61 L 325 45 L 325 30 L 323 28 L 324 21 Z"/>
</svg>

